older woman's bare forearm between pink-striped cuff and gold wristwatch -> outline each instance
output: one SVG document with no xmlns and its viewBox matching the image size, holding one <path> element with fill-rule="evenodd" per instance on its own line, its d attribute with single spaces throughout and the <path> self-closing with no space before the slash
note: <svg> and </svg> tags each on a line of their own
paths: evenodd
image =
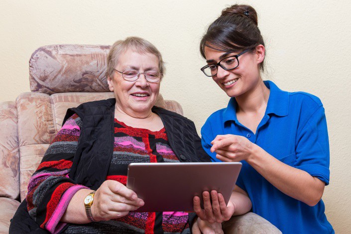
<svg viewBox="0 0 351 234">
<path fill-rule="evenodd" d="M 63 214 L 60 222 L 71 224 L 87 224 L 91 221 L 88 219 L 84 207 L 85 197 L 93 192 L 90 189 L 81 189 L 72 197 L 68 207 Z"/>
</svg>

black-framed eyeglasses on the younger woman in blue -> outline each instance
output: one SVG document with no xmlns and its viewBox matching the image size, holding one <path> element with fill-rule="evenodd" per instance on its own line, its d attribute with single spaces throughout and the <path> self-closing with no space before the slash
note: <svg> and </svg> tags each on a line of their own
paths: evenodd
<svg viewBox="0 0 351 234">
<path fill-rule="evenodd" d="M 218 66 L 223 68 L 224 70 L 233 70 L 239 66 L 238 57 L 250 49 L 244 50 L 241 53 L 233 56 L 229 56 L 227 58 L 222 59 L 217 64 L 208 64 L 201 68 L 201 71 L 208 77 L 216 76 L 218 72 Z"/>
</svg>

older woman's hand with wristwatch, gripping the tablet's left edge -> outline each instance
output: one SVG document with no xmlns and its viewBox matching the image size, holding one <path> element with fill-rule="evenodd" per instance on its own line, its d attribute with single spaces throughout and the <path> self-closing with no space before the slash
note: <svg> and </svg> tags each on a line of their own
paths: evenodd
<svg viewBox="0 0 351 234">
<path fill-rule="evenodd" d="M 123 184 L 106 180 L 96 191 L 91 207 L 96 221 L 108 221 L 126 216 L 144 205 L 144 201 L 136 193 Z"/>
</svg>

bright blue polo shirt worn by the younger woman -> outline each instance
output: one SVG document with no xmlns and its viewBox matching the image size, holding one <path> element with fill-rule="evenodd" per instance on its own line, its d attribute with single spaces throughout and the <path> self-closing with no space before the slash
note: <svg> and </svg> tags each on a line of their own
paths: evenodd
<svg viewBox="0 0 351 234">
<path fill-rule="evenodd" d="M 319 98 L 303 93 L 280 90 L 273 82 L 264 81 L 270 89 L 266 112 L 256 134 L 236 118 L 235 98 L 228 107 L 213 113 L 201 128 L 202 145 L 212 160 L 211 141 L 217 135 L 244 136 L 273 157 L 306 171 L 329 184 L 329 141 L 327 122 Z M 236 185 L 247 192 L 252 212 L 275 225 L 283 234 L 334 233 L 324 214 L 321 200 L 310 207 L 276 189 L 246 161 Z"/>
</svg>

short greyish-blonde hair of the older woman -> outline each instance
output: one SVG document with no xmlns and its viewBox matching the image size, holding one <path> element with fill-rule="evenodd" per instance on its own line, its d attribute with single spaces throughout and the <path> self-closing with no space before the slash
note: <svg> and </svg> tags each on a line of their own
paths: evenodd
<svg viewBox="0 0 351 234">
<path fill-rule="evenodd" d="M 116 41 L 110 49 L 109 55 L 107 56 L 107 75 L 110 78 L 113 77 L 115 72 L 114 68 L 118 63 L 119 56 L 127 49 L 131 49 L 138 53 L 150 53 L 156 55 L 158 58 L 158 68 L 162 74 L 161 78 L 163 77 L 166 70 L 160 51 L 158 51 L 158 49 L 149 41 L 141 37 L 130 36 L 124 40 Z"/>
</svg>

